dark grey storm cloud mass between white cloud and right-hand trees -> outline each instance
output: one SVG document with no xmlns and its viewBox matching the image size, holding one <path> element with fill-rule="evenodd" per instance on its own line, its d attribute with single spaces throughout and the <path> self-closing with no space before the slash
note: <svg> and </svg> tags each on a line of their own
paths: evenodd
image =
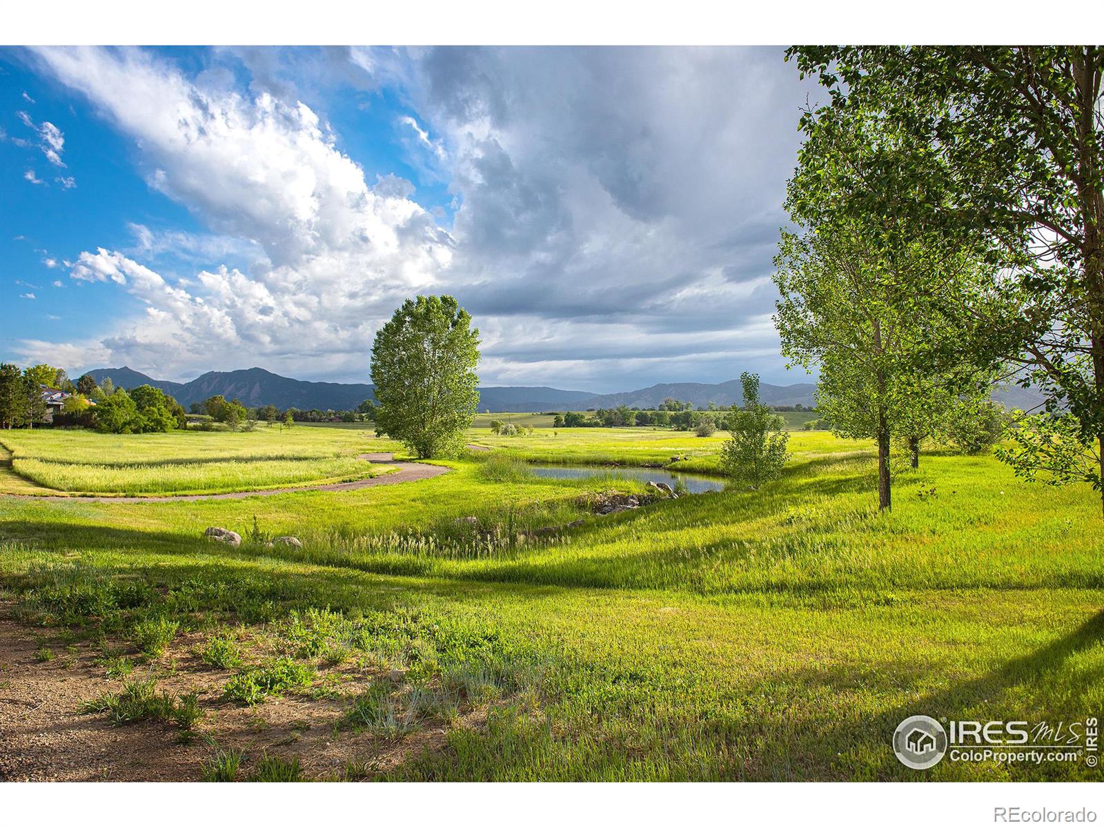
<svg viewBox="0 0 1104 828">
<path fill-rule="evenodd" d="M 808 92 L 781 50 L 436 49 L 408 81 L 460 203 L 449 287 L 561 329 L 496 352 L 617 358 L 624 326 L 640 357 L 656 333 L 681 335 L 669 355 L 741 327 L 776 349 L 766 277 Z M 572 336 L 598 320 L 616 333 Z"/>
</svg>

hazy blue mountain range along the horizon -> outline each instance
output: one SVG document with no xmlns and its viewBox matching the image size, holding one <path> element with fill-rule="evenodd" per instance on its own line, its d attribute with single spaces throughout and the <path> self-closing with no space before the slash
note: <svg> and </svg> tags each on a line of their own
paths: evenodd
<svg viewBox="0 0 1104 828">
<path fill-rule="evenodd" d="M 320 411 L 347 411 L 355 408 L 364 400 L 374 399 L 375 386 L 370 383 L 309 382 L 280 376 L 263 368 L 241 371 L 209 371 L 191 382 L 155 380 L 130 368 L 99 368 L 88 371 L 97 383 L 106 378 L 124 389 L 138 385 L 153 385 L 171 394 L 184 407 L 202 402 L 215 394 L 227 400 L 237 399 L 242 404 L 256 407 L 275 405 L 277 408 L 318 408 Z M 816 385 L 799 382 L 793 385 L 760 386 L 760 395 L 766 405 L 814 405 L 813 392 Z M 655 408 L 667 397 L 689 401 L 696 408 L 704 408 L 710 403 L 721 407 L 741 405 L 740 382 L 730 380 L 716 384 L 700 382 L 661 383 L 637 391 L 616 394 L 592 394 L 585 391 L 564 391 L 545 386 L 488 386 L 479 389 L 479 411 L 534 412 L 534 411 L 585 411 L 587 408 L 613 408 L 627 405 L 629 408 Z M 994 397 L 1009 407 L 1030 408 L 1040 397 L 1032 391 L 1010 388 L 994 394 Z"/>
</svg>

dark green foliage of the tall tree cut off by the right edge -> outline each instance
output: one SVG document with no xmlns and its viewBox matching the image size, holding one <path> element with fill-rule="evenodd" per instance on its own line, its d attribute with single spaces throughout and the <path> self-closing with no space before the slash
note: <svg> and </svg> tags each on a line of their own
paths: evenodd
<svg viewBox="0 0 1104 828">
<path fill-rule="evenodd" d="M 1048 412 L 1072 415 L 1054 428 L 1072 422 L 1082 444 L 1100 442 L 1104 47 L 803 46 L 787 60 L 830 93 L 802 118 L 807 141 L 792 215 L 817 227 L 903 219 L 925 247 L 958 247 L 984 262 L 990 278 L 975 298 L 989 305 L 976 305 L 974 327 L 985 336 L 974 341 L 1025 367 L 1023 382 L 1043 390 Z M 895 172 L 879 160 L 891 157 Z M 879 168 L 898 183 L 868 176 L 870 185 L 859 185 L 863 170 Z M 881 246 L 894 232 L 869 237 Z M 1018 470 L 1037 461 L 1052 471 L 1038 452 L 1006 456 Z"/>
</svg>

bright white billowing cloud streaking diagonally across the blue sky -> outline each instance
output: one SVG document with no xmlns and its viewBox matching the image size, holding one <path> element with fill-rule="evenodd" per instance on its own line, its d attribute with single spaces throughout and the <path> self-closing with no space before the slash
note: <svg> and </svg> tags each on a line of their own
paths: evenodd
<svg viewBox="0 0 1104 828">
<path fill-rule="evenodd" d="M 119 251 L 82 253 L 74 279 L 124 285 L 147 302 L 144 318 L 103 340 L 114 357 L 177 376 L 206 370 L 214 352 L 231 364 L 241 353 L 241 364 L 363 375 L 375 327 L 448 266 L 452 238 L 408 187 L 369 185 L 306 105 L 205 85 L 134 50 L 39 56 L 136 141 L 152 187 L 214 231 L 135 225 L 136 255 L 171 247 L 211 262 L 223 244 L 223 253 L 251 258 L 246 269 L 189 274 L 185 290 Z M 164 336 L 147 328 L 170 331 L 171 341 L 159 347 Z"/>
</svg>

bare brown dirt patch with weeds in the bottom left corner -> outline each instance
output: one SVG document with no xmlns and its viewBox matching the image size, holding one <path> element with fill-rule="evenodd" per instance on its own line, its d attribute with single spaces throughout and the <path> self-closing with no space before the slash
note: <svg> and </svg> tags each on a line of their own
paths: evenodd
<svg viewBox="0 0 1104 828">
<path fill-rule="evenodd" d="M 349 665 L 322 671 L 339 688 L 337 698 L 289 693 L 241 707 L 222 698 L 232 672 L 200 660 L 194 646 L 202 637 L 190 635 L 155 664 L 137 665 L 129 677 L 153 676 L 159 691 L 199 693 L 204 716 L 182 741 L 171 724 L 116 725 L 106 713 L 82 712 L 83 702 L 117 692 L 125 679 L 105 677 L 97 648 L 66 647 L 49 635 L 43 641 L 36 631 L 0 619 L 0 781 L 198 781 L 214 745 L 245 754 L 238 778 L 263 756 L 298 758 L 305 778 L 344 778 L 351 764 L 371 776 L 423 752 L 446 750 L 452 728 L 478 728 L 486 718 L 485 710 L 476 710 L 450 723 L 427 720 L 397 739 L 339 726 L 350 699 L 379 679 Z M 42 660 L 42 646 L 52 659 Z"/>
</svg>

